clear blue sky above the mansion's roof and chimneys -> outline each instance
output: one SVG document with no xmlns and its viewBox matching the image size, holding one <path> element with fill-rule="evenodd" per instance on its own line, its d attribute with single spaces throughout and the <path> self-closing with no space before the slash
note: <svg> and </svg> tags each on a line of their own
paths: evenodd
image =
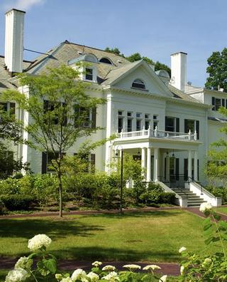
<svg viewBox="0 0 227 282">
<path fill-rule="evenodd" d="M 206 60 L 227 45 L 226 0 L 0 0 L 0 54 L 4 55 L 4 13 L 26 11 L 24 47 L 48 51 L 60 42 L 125 56 L 139 52 L 170 66 L 170 54 L 187 56 L 187 81 L 204 86 Z M 32 60 L 34 53 L 24 51 Z"/>
</svg>

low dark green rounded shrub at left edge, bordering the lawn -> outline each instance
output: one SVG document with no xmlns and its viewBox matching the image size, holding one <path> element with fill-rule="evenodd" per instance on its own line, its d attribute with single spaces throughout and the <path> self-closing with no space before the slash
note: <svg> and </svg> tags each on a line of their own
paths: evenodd
<svg viewBox="0 0 227 282">
<path fill-rule="evenodd" d="M 1 202 L 9 211 L 27 211 L 35 199 L 24 195 L 6 195 L 1 196 Z"/>
</svg>

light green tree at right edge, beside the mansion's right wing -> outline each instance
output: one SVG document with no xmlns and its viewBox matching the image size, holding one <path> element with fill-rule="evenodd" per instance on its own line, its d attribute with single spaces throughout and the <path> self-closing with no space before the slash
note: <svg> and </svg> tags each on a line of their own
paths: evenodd
<svg viewBox="0 0 227 282">
<path fill-rule="evenodd" d="M 227 117 L 227 109 L 221 107 L 219 112 Z M 227 125 L 221 128 L 221 132 L 227 135 Z M 213 179 L 226 182 L 227 179 L 227 141 L 220 139 L 212 143 L 212 149 L 208 153 L 207 175 Z M 215 149 L 216 148 L 216 149 Z"/>
</svg>

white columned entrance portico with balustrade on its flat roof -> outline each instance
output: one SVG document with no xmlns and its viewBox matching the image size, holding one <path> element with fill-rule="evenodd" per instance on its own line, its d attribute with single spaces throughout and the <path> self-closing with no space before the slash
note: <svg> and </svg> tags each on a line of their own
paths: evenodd
<svg viewBox="0 0 227 282">
<path fill-rule="evenodd" d="M 155 130 L 153 130 L 154 132 Z M 157 182 L 165 179 L 170 181 L 170 158 L 178 152 L 187 152 L 187 177 L 198 180 L 198 147 L 201 142 L 196 140 L 196 132 L 192 135 L 179 132 L 156 130 L 121 132 L 114 140 L 111 150 L 123 150 L 128 154 L 138 155 L 140 152 L 141 167 L 145 181 Z M 161 133 L 161 134 L 160 134 Z M 193 162 L 192 162 L 193 161 Z M 192 175 L 193 168 L 193 175 Z"/>
</svg>

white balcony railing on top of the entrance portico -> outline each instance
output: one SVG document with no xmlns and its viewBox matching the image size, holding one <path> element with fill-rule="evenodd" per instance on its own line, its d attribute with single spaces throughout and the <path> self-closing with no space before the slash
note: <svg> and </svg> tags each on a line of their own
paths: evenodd
<svg viewBox="0 0 227 282">
<path fill-rule="evenodd" d="M 141 137 L 155 137 L 155 138 L 163 138 L 163 139 L 177 139 L 177 140 L 188 140 L 188 141 L 196 141 L 197 140 L 197 134 L 196 131 L 192 133 L 190 130 L 188 133 L 184 132 L 172 132 L 172 131 L 165 131 L 165 130 L 157 130 L 157 127 L 155 130 L 151 130 L 149 127 L 148 130 L 139 130 L 139 131 L 131 131 L 131 132 L 123 132 L 118 133 L 118 138 L 124 139 L 124 138 L 135 138 L 140 139 Z"/>
</svg>

